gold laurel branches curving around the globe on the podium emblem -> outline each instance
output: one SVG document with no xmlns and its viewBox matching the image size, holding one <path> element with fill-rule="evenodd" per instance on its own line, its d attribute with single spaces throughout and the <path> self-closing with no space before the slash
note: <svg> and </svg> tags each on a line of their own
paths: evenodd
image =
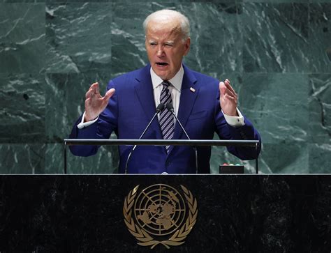
<svg viewBox="0 0 331 253">
<path fill-rule="evenodd" d="M 193 198 L 192 193 L 186 189 L 183 185 L 180 185 L 182 190 L 184 191 L 185 198 L 187 200 L 189 206 L 189 215 L 186 219 L 185 224 L 182 225 L 180 229 L 175 231 L 175 233 L 168 238 L 168 240 L 155 240 L 152 236 L 147 233 L 144 229 L 140 229 L 137 224 L 135 224 L 132 217 L 132 207 L 135 202 L 135 194 L 137 194 L 137 190 L 139 185 L 135 186 L 133 190 L 128 193 L 124 200 L 123 213 L 124 213 L 124 222 L 126 227 L 128 227 L 128 231 L 140 241 L 138 245 L 142 246 L 151 246 L 153 249 L 156 245 L 162 244 L 167 249 L 170 249 L 169 246 L 178 246 L 185 243 L 183 240 L 186 236 L 191 232 L 194 224 L 196 224 L 196 218 L 198 216 L 198 204 L 195 198 Z"/>
</svg>

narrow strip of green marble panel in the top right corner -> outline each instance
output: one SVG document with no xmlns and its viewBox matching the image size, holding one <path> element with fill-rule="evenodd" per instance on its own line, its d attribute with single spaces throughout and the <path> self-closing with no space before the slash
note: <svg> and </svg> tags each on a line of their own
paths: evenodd
<svg viewBox="0 0 331 253">
<path fill-rule="evenodd" d="M 331 72 L 331 1 L 309 5 L 309 70 Z"/>
</svg>

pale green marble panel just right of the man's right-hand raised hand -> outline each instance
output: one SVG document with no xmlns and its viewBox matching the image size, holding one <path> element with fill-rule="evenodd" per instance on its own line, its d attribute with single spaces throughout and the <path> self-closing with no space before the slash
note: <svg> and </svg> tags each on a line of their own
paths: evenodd
<svg viewBox="0 0 331 253">
<path fill-rule="evenodd" d="M 264 144 L 309 139 L 307 75 L 252 73 L 242 79 L 240 105 Z"/>
</svg>

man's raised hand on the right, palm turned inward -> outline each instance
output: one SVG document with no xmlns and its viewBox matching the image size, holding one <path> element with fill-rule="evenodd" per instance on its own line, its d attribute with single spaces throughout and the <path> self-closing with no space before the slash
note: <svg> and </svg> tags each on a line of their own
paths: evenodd
<svg viewBox="0 0 331 253">
<path fill-rule="evenodd" d="M 238 116 L 237 114 L 237 101 L 238 95 L 230 85 L 230 81 L 226 79 L 224 82 L 219 82 L 219 99 L 223 113 L 228 116 Z"/>
</svg>

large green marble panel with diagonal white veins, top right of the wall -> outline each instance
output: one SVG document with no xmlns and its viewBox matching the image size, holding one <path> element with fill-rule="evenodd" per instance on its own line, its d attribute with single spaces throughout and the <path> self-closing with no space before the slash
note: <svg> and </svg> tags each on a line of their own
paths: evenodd
<svg viewBox="0 0 331 253">
<path fill-rule="evenodd" d="M 309 71 L 308 4 L 243 3 L 245 72 Z"/>
</svg>

